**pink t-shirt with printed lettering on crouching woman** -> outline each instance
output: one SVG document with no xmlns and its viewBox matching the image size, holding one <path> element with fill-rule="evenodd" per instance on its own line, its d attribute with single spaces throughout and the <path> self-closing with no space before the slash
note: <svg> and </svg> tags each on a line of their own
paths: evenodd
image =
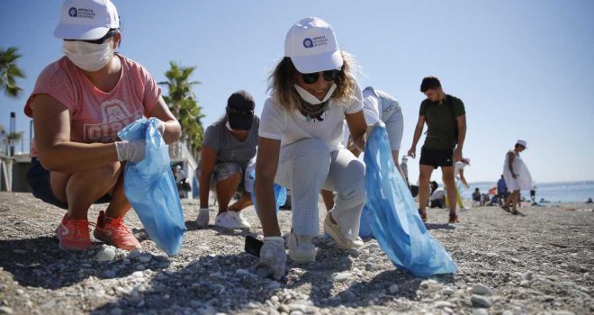
<svg viewBox="0 0 594 315">
<path fill-rule="evenodd" d="M 67 57 L 43 69 L 27 100 L 24 112 L 32 117 L 31 101 L 36 94 L 49 94 L 70 112 L 70 140 L 109 143 L 132 121 L 147 116 L 157 104 L 161 88 L 139 63 L 117 55 L 121 76 L 110 92 L 96 88 Z M 33 155 L 34 152 L 32 152 Z"/>
</svg>

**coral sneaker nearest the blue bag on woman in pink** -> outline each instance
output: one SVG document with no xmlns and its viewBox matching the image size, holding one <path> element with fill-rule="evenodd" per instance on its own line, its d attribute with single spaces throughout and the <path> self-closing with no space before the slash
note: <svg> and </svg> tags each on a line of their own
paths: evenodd
<svg viewBox="0 0 594 315">
<path fill-rule="evenodd" d="M 97 218 L 97 226 L 94 228 L 93 236 L 103 241 L 103 243 L 121 249 L 134 250 L 141 248 L 139 240 L 130 233 L 130 229 L 123 223 L 123 216 L 113 219 L 105 216 L 104 211 L 99 211 L 99 218 Z"/>
</svg>

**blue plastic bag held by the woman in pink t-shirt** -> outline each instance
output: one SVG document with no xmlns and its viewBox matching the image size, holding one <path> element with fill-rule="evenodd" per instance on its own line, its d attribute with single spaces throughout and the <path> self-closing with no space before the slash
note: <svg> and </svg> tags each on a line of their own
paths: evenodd
<svg viewBox="0 0 594 315">
<path fill-rule="evenodd" d="M 185 232 L 184 212 L 169 166 L 169 152 L 157 120 L 141 118 L 118 132 L 122 140 L 145 139 L 145 157 L 126 163 L 124 193 L 148 236 L 169 256 L 179 252 Z"/>
</svg>

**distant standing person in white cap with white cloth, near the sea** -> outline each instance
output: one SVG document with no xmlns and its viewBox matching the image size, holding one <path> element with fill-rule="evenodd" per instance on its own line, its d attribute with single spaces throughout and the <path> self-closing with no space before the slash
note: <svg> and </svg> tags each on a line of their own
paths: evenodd
<svg viewBox="0 0 594 315">
<path fill-rule="evenodd" d="M 527 143 L 525 140 L 518 139 L 513 149 L 506 154 L 503 165 L 503 178 L 511 194 L 503 204 L 503 210 L 518 214 L 518 200 L 520 190 L 529 190 L 532 188 L 532 176 L 528 171 L 524 161 L 519 157 L 520 152 L 524 151 Z"/>
</svg>

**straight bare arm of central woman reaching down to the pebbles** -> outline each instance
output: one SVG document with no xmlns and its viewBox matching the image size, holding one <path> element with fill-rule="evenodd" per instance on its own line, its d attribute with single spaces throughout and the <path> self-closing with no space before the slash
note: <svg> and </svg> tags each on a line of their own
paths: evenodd
<svg viewBox="0 0 594 315">
<path fill-rule="evenodd" d="M 257 146 L 256 183 L 254 184 L 257 215 L 262 223 L 265 237 L 281 236 L 276 218 L 274 189 L 281 141 L 260 137 Z"/>
</svg>

